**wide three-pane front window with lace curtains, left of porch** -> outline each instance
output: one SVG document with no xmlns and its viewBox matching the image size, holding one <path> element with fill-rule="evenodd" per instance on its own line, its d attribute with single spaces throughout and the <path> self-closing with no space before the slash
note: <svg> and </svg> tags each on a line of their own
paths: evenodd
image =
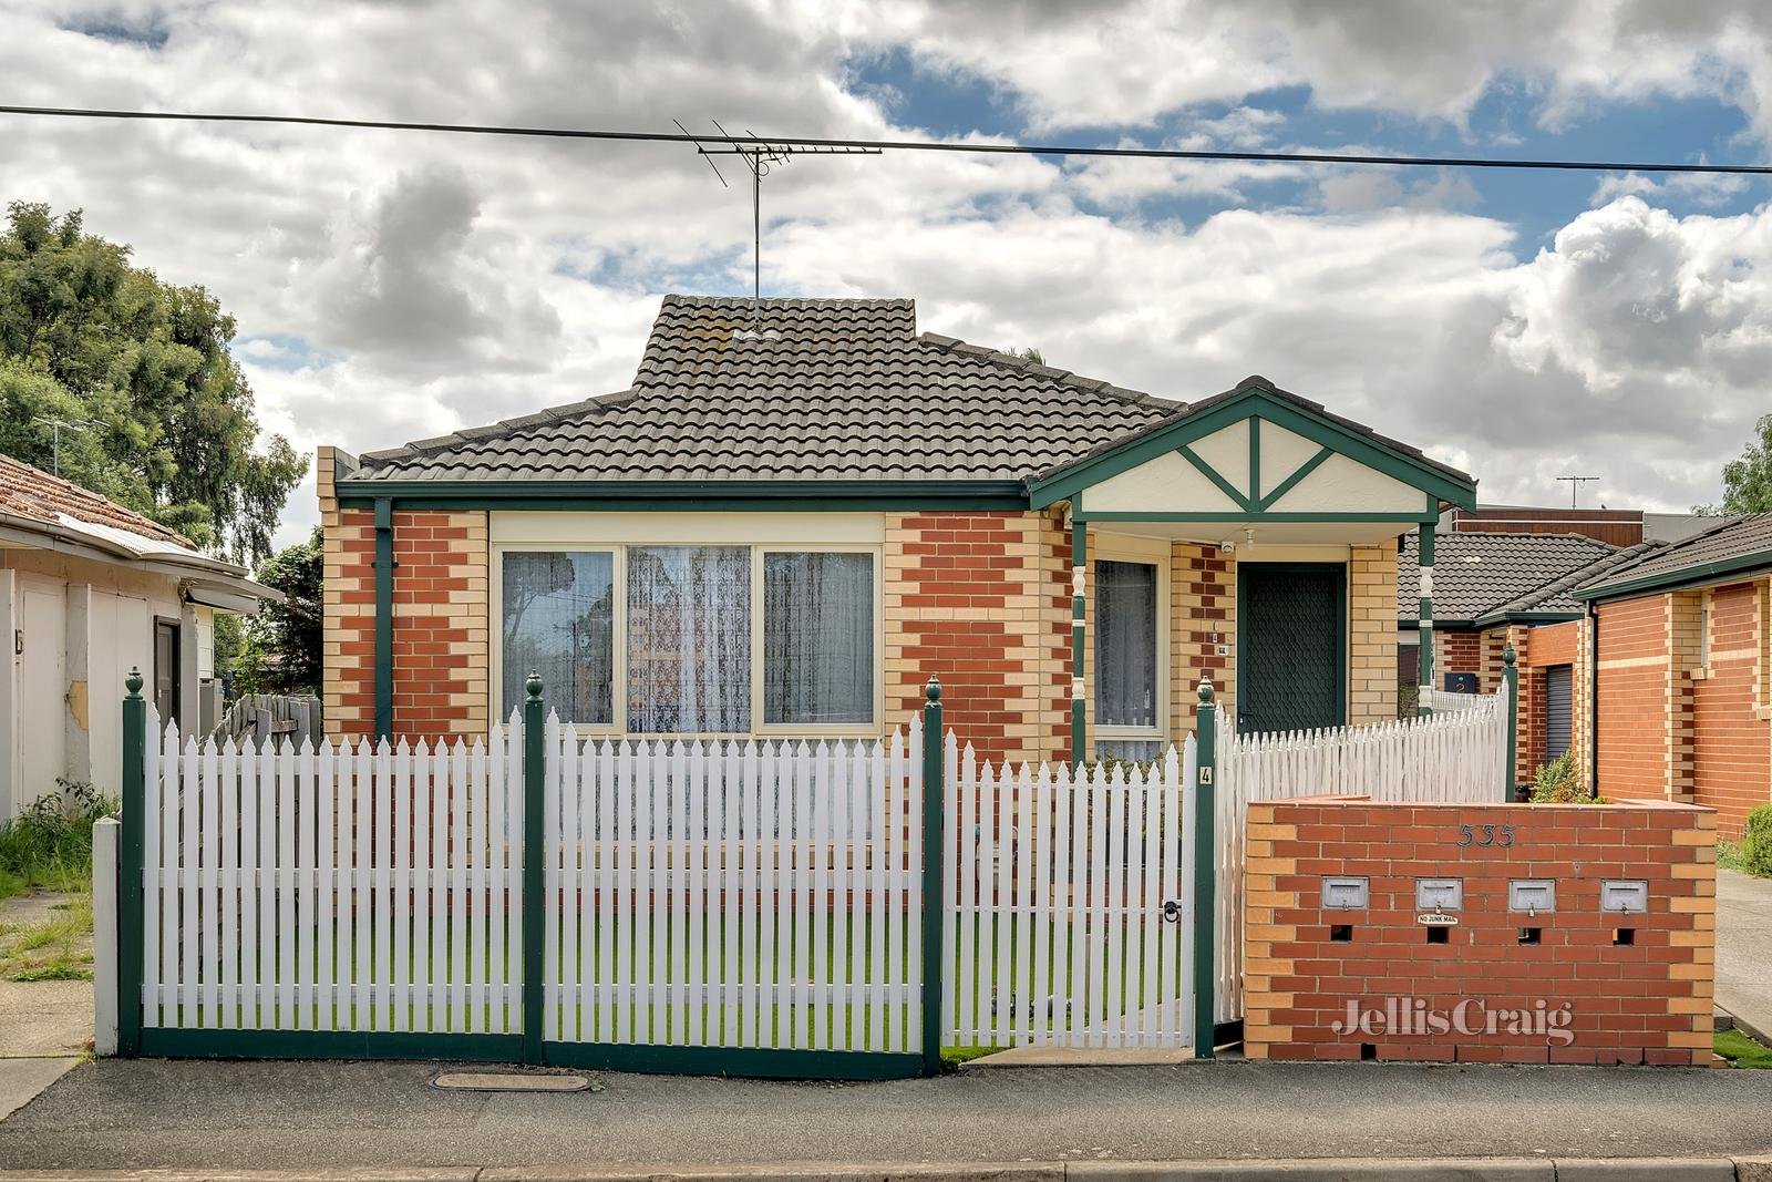
<svg viewBox="0 0 1772 1182">
<path fill-rule="evenodd" d="M 503 551 L 500 689 L 530 672 L 569 723 L 631 734 L 870 728 L 872 549 Z"/>
</svg>

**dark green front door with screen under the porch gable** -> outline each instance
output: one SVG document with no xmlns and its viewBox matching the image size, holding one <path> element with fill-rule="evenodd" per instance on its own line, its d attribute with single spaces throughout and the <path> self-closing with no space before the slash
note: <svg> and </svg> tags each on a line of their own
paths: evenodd
<svg viewBox="0 0 1772 1182">
<path fill-rule="evenodd" d="M 1347 721 L 1347 567 L 1237 564 L 1237 730 Z"/>
</svg>

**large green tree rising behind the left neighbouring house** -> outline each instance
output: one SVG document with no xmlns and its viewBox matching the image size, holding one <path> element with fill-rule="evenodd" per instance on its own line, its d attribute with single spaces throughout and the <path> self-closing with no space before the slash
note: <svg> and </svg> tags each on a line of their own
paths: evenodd
<svg viewBox="0 0 1772 1182">
<path fill-rule="evenodd" d="M 307 457 L 262 450 L 252 386 L 229 353 L 234 319 L 202 287 L 129 262 L 80 211 L 12 202 L 0 234 L 0 452 L 62 475 L 255 564 Z"/>
</svg>

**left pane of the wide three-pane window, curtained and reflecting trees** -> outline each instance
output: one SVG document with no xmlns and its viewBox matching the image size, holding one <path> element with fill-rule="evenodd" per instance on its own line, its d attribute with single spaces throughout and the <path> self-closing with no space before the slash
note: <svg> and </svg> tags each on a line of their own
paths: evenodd
<svg viewBox="0 0 1772 1182">
<path fill-rule="evenodd" d="M 615 555 L 507 553 L 503 562 L 503 712 L 523 705 L 523 682 L 571 723 L 610 723 Z"/>
</svg>

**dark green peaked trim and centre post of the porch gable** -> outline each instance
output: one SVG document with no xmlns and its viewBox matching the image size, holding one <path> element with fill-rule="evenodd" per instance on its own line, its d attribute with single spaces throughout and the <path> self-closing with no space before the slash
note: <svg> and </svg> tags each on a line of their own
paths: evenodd
<svg viewBox="0 0 1772 1182">
<path fill-rule="evenodd" d="M 1168 424 L 1166 427 L 1146 431 L 1120 447 L 1099 452 L 1051 477 L 1030 480 L 1030 502 L 1035 509 L 1044 509 L 1054 502 L 1069 498 L 1079 489 L 1100 484 L 1109 477 L 1138 468 L 1139 464 L 1166 452 L 1182 450 L 1187 443 L 1246 418 L 1265 418 L 1274 425 L 1285 427 L 1304 436 L 1306 439 L 1313 439 L 1322 447 L 1331 448 L 1333 452 L 1347 455 L 1373 471 L 1421 489 L 1437 500 L 1458 505 L 1460 509 L 1476 507 L 1474 480 L 1458 480 L 1416 455 L 1384 447 L 1357 431 L 1350 431 L 1322 415 L 1294 406 L 1292 402 L 1262 388 L 1244 390 L 1209 411 L 1189 415 Z M 1255 461 L 1260 459 L 1256 431 L 1258 427 L 1251 424 L 1251 459 Z M 1255 473 L 1258 471 L 1260 468 L 1255 470 Z M 1251 478 L 1258 478 L 1255 473 L 1251 473 Z M 1244 498 L 1239 494 L 1237 500 L 1242 502 Z"/>
</svg>

